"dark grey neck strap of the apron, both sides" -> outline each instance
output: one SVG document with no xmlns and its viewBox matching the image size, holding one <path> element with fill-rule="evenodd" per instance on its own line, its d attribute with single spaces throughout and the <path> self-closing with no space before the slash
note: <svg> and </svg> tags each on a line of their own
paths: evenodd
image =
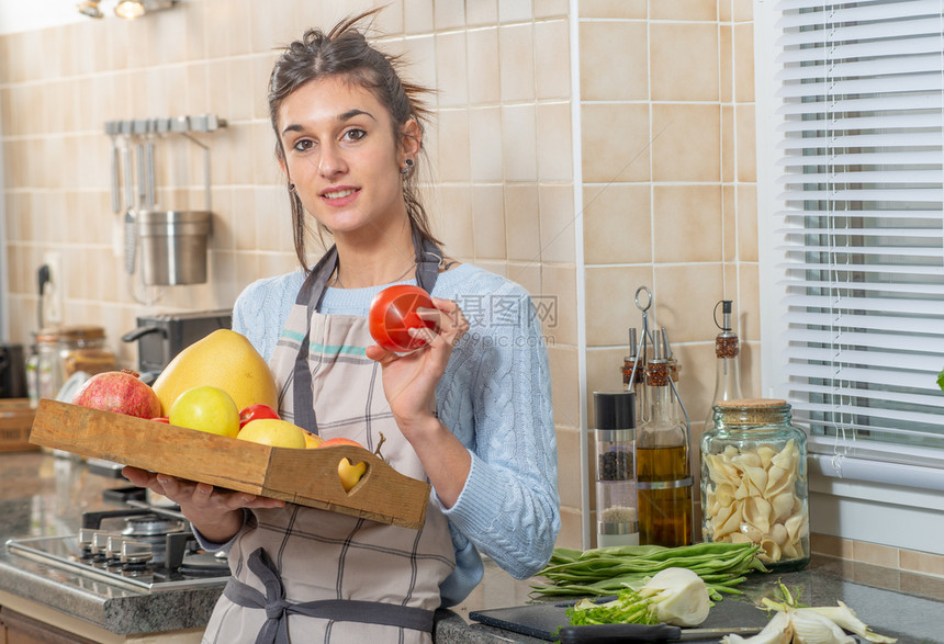
<svg viewBox="0 0 944 644">
<path fill-rule="evenodd" d="M 413 234 L 413 250 L 416 255 L 416 283 L 427 293 L 432 293 L 439 269 L 443 262 L 442 251 L 429 239 L 422 238 L 416 231 Z M 337 246 L 331 246 L 324 257 L 318 261 L 311 274 L 299 290 L 295 304 L 305 306 L 307 315 L 305 319 L 305 337 L 299 347 L 295 357 L 295 368 L 292 373 L 293 422 L 312 433 L 318 433 L 318 420 L 315 416 L 315 406 L 312 398 L 312 371 L 308 366 L 308 352 L 312 337 L 312 314 L 319 310 L 322 300 L 327 291 L 328 280 L 338 265 Z"/>
</svg>

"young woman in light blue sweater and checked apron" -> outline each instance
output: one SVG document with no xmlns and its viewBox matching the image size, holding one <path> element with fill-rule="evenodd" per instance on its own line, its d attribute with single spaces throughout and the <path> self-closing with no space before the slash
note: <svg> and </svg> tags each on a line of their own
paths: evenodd
<svg viewBox="0 0 944 644">
<path fill-rule="evenodd" d="M 373 449 L 428 479 L 422 530 L 286 505 L 127 468 L 228 549 L 233 577 L 205 642 L 430 642 L 432 611 L 481 580 L 479 553 L 517 578 L 548 561 L 560 530 L 547 351 L 517 284 L 447 258 L 415 194 L 422 89 L 359 31 L 362 14 L 289 45 L 269 108 L 303 270 L 249 285 L 234 329 L 269 361 L 280 415 Z M 311 222 L 334 246 L 314 268 Z M 397 355 L 367 313 L 393 283 L 434 295 L 439 332 Z M 470 313 L 463 315 L 462 306 Z"/>
</svg>

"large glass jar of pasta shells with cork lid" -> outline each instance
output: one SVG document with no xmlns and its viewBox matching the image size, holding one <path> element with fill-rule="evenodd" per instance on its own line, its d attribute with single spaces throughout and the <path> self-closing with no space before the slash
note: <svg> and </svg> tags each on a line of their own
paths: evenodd
<svg viewBox="0 0 944 644">
<path fill-rule="evenodd" d="M 807 438 L 778 399 L 715 405 L 701 438 L 701 535 L 754 543 L 768 568 L 798 570 L 810 561 Z"/>
</svg>

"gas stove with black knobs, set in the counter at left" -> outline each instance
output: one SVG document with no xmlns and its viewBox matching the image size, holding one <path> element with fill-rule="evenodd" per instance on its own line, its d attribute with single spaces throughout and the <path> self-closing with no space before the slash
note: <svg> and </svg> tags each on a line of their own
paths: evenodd
<svg viewBox="0 0 944 644">
<path fill-rule="evenodd" d="M 106 490 L 125 507 L 86 512 L 78 534 L 11 539 L 10 552 L 132 590 L 222 586 L 229 566 L 222 554 L 199 550 L 176 507 L 146 502 L 142 488 Z"/>
</svg>

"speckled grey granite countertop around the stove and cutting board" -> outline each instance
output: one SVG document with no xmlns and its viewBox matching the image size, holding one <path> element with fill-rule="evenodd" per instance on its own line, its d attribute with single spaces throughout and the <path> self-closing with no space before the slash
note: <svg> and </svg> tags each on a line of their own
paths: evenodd
<svg viewBox="0 0 944 644">
<path fill-rule="evenodd" d="M 86 511 L 114 509 L 102 492 L 127 482 L 92 473 L 81 462 L 42 452 L 0 455 L 0 542 L 11 538 L 75 534 Z M 907 575 L 842 560 L 813 557 L 799 573 L 779 575 L 811 605 L 842 599 L 877 632 L 900 644 L 944 642 L 944 579 Z M 760 615 L 752 607 L 777 578 L 755 575 L 740 586 L 743 597 L 726 597 L 712 608 L 712 624 L 729 615 Z M 485 626 L 469 619 L 476 610 L 520 606 L 536 580 L 516 580 L 486 560 L 485 577 L 460 606 L 437 613 L 435 639 L 454 644 L 541 642 Z M 120 635 L 200 629 L 210 618 L 222 586 L 146 592 L 92 580 L 0 549 L 0 591 L 70 615 Z M 746 611 L 746 612 L 745 612 Z M 739 617 L 739 619 L 741 619 Z"/>
</svg>

